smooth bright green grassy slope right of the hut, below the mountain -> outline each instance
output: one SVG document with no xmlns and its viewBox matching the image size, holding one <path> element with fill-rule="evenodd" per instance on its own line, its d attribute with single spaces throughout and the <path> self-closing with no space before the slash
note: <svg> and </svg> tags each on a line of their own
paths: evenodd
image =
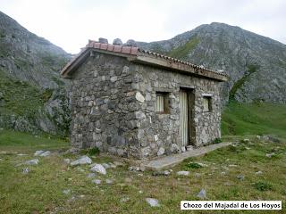
<svg viewBox="0 0 286 214">
<path fill-rule="evenodd" d="M 224 107 L 223 136 L 286 136 L 286 105 L 231 102 Z"/>
</svg>

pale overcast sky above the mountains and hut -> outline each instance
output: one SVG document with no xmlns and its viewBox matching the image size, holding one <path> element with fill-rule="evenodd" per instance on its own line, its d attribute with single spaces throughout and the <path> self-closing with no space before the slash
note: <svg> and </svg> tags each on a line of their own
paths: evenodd
<svg viewBox="0 0 286 214">
<path fill-rule="evenodd" d="M 158 41 L 214 21 L 286 44 L 285 0 L 0 0 L 0 11 L 68 53 L 88 39 Z"/>
</svg>

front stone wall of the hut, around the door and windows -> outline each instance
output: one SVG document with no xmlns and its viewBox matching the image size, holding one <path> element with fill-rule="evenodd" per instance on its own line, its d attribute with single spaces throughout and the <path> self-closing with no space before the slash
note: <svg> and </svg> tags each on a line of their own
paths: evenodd
<svg viewBox="0 0 286 214">
<path fill-rule="evenodd" d="M 140 111 L 145 113 L 139 124 L 140 158 L 153 157 L 172 152 L 181 152 L 180 88 L 192 88 L 195 93 L 193 123 L 194 146 L 210 144 L 221 137 L 220 83 L 205 78 L 195 78 L 176 71 L 133 64 L 135 70 L 132 87 L 145 97 Z M 169 114 L 157 114 L 156 91 L 168 92 Z M 212 111 L 203 111 L 203 94 L 212 94 Z"/>
</svg>

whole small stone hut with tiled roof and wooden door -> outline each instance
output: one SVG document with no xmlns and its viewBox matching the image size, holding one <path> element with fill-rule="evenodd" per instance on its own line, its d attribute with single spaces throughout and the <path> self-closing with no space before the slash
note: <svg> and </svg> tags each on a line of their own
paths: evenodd
<svg viewBox="0 0 286 214">
<path fill-rule="evenodd" d="M 221 137 L 222 72 L 89 40 L 61 74 L 71 79 L 72 146 L 142 160 Z"/>
</svg>

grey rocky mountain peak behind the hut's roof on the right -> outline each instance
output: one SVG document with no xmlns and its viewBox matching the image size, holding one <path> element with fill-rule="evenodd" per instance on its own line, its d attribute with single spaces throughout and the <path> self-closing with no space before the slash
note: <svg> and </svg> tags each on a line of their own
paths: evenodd
<svg viewBox="0 0 286 214">
<path fill-rule="evenodd" d="M 286 103 L 286 45 L 223 23 L 201 25 L 169 40 L 140 47 L 224 70 L 224 100 Z"/>
</svg>

